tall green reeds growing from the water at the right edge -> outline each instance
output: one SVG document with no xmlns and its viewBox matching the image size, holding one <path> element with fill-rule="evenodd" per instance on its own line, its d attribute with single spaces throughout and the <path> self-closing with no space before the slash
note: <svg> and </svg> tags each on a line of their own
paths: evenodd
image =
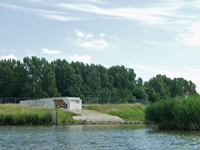
<svg viewBox="0 0 200 150">
<path fill-rule="evenodd" d="M 200 130 L 200 97 L 162 100 L 147 106 L 145 114 L 160 129 Z"/>
</svg>

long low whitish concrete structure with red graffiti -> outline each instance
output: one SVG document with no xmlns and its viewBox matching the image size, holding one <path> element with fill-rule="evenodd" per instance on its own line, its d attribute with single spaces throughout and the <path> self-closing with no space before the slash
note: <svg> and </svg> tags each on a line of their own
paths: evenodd
<svg viewBox="0 0 200 150">
<path fill-rule="evenodd" d="M 82 100 L 79 97 L 56 97 L 38 100 L 20 101 L 20 106 L 57 108 L 64 110 L 82 110 Z"/>
</svg>

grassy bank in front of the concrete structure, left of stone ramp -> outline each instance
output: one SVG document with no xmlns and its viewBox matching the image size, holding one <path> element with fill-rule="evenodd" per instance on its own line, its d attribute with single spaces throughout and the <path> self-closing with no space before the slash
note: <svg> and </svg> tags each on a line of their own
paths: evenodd
<svg viewBox="0 0 200 150">
<path fill-rule="evenodd" d="M 49 113 L 49 112 L 52 113 Z M 47 125 L 52 124 L 52 116 L 57 111 L 58 122 L 74 123 L 72 116 L 76 114 L 68 111 L 39 108 L 20 107 L 19 104 L 0 104 L 0 124 L 3 125 Z"/>
</svg>

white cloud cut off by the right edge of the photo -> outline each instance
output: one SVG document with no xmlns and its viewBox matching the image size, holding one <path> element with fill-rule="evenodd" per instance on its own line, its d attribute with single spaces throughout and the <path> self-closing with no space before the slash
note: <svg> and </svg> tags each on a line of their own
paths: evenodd
<svg viewBox="0 0 200 150">
<path fill-rule="evenodd" d="M 179 34 L 186 45 L 200 46 L 200 24 L 194 24 L 187 28 L 187 33 Z"/>
</svg>

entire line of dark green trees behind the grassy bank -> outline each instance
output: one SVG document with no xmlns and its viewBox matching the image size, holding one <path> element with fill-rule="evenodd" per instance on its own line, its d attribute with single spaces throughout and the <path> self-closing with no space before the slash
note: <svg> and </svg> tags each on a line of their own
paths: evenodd
<svg viewBox="0 0 200 150">
<path fill-rule="evenodd" d="M 36 56 L 0 60 L 0 97 L 98 97 L 157 101 L 197 94 L 196 85 L 183 78 L 157 75 L 143 83 L 125 66 L 105 68 Z"/>
</svg>

